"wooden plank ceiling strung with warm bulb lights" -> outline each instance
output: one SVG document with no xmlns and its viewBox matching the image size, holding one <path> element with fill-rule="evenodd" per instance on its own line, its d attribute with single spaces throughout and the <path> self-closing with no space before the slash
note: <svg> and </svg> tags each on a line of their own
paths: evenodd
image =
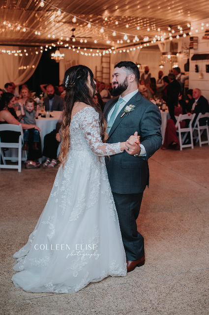
<svg viewBox="0 0 209 315">
<path fill-rule="evenodd" d="M 135 36 L 136 43 L 143 42 L 146 36 L 149 41 L 155 36 L 168 38 L 172 31 L 175 38 L 180 32 L 178 27 L 188 34 L 187 24 L 209 17 L 208 0 L 47 0 L 43 7 L 40 3 L 41 0 L 0 0 L 0 44 L 62 42 L 63 46 L 68 43 L 89 48 L 118 48 L 133 44 Z M 75 29 L 74 42 L 70 38 L 72 29 Z M 130 42 L 124 40 L 124 34 Z"/>
</svg>

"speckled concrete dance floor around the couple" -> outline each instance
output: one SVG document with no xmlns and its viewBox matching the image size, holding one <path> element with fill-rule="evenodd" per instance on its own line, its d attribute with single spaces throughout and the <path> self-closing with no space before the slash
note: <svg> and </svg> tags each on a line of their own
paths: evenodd
<svg viewBox="0 0 209 315">
<path fill-rule="evenodd" d="M 146 263 L 77 293 L 27 293 L 11 282 L 56 169 L 1 170 L 1 315 L 209 315 L 209 146 L 149 159 L 138 229 Z"/>
</svg>

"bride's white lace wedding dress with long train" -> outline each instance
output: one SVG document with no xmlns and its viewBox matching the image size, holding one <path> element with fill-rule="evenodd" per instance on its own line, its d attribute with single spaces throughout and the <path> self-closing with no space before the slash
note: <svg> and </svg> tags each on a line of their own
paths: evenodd
<svg viewBox="0 0 209 315">
<path fill-rule="evenodd" d="M 28 243 L 14 254 L 16 287 L 68 293 L 108 276 L 126 276 L 104 158 L 120 153 L 120 143 L 102 143 L 98 120 L 89 106 L 72 118 L 67 161 Z"/>
</svg>

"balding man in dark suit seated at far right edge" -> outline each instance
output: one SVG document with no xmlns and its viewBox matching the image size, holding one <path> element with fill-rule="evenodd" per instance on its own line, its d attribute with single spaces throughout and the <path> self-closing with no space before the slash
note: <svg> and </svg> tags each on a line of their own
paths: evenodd
<svg viewBox="0 0 209 315">
<path fill-rule="evenodd" d="M 209 113 L 209 102 L 203 95 L 201 95 L 200 89 L 194 89 L 192 92 L 192 97 L 194 98 L 194 103 L 192 105 L 191 113 L 196 114 L 192 123 L 192 125 L 194 126 L 199 113 L 202 113 L 202 114 Z M 205 125 L 206 121 L 207 121 L 207 118 L 202 118 L 200 120 L 200 126 Z"/>
</svg>

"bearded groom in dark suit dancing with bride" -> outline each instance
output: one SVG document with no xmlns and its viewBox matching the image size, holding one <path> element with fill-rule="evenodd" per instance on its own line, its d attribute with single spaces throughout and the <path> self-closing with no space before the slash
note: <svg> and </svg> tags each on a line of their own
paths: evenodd
<svg viewBox="0 0 209 315">
<path fill-rule="evenodd" d="M 119 98 L 109 100 L 104 109 L 109 143 L 126 141 L 132 134 L 141 136 L 140 145 L 128 140 L 123 153 L 111 156 L 106 161 L 128 272 L 145 263 L 144 238 L 137 231 L 136 220 L 143 191 L 149 185 L 148 158 L 160 148 L 162 142 L 160 111 L 139 93 L 139 76 L 135 63 L 116 64 L 112 95 L 119 95 Z"/>
</svg>

